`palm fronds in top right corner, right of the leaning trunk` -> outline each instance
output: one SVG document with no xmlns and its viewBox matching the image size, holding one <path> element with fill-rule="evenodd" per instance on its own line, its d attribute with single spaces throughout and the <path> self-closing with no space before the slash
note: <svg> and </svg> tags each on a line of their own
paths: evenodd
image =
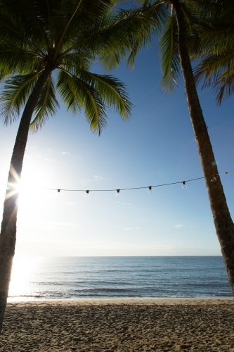
<svg viewBox="0 0 234 352">
<path fill-rule="evenodd" d="M 209 18 L 195 27 L 197 45 L 190 49 L 194 58 L 202 58 L 195 81 L 203 81 L 202 88 L 214 88 L 218 105 L 234 92 L 233 13 L 233 1 L 219 1 Z"/>
</svg>

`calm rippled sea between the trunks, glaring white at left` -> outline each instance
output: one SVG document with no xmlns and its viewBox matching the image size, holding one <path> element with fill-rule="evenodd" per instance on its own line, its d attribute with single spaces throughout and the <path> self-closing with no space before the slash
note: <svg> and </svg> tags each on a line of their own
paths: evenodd
<svg viewBox="0 0 234 352">
<path fill-rule="evenodd" d="M 15 258 L 9 300 L 231 296 L 221 256 Z"/>
</svg>

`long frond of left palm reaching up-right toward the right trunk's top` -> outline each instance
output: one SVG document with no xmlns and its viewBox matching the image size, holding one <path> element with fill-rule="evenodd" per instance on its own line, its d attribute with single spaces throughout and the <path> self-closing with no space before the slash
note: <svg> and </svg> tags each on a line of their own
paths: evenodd
<svg viewBox="0 0 234 352">
<path fill-rule="evenodd" d="M 160 18 L 164 14 L 165 8 L 160 6 L 157 12 L 152 8 L 147 8 L 145 12 L 142 9 L 131 9 L 96 18 L 96 21 L 86 27 L 86 31 L 81 33 L 79 39 L 75 40 L 72 46 L 61 54 L 61 57 L 77 48 L 89 48 L 96 54 L 100 54 L 100 63 L 103 65 L 108 63 L 108 69 L 110 69 L 111 60 L 106 56 L 110 53 L 117 63 L 118 57 L 125 58 L 126 53 L 134 46 L 135 52 L 138 50 L 136 49 L 137 37 L 138 42 L 140 36 L 144 38 L 145 43 L 147 40 L 150 42 L 150 32 L 160 26 L 162 22 Z"/>
</svg>

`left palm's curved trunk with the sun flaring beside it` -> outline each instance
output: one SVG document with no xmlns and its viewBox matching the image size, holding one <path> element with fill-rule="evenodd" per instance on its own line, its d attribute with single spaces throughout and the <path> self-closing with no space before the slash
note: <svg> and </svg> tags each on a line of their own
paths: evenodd
<svg viewBox="0 0 234 352">
<path fill-rule="evenodd" d="M 32 90 L 32 94 L 30 95 L 30 98 L 25 106 L 25 110 L 22 113 L 18 133 L 15 139 L 15 146 L 11 157 L 11 166 L 8 174 L 8 187 L 4 201 L 4 213 L 1 222 L 0 234 L 0 334 L 11 280 L 11 268 L 15 253 L 16 240 L 18 193 L 13 193 L 14 187 L 11 185 L 16 184 L 17 180 L 20 178 L 32 114 L 35 106 L 37 105 L 41 90 L 52 70 L 53 68 L 47 65 Z"/>
</svg>

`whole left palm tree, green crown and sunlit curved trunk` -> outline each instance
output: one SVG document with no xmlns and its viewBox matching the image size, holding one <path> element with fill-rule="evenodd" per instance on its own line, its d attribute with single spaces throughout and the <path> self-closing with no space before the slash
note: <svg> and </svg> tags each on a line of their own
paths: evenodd
<svg viewBox="0 0 234 352">
<path fill-rule="evenodd" d="M 13 122 L 20 115 L 8 174 L 8 189 L 0 235 L 0 332 L 15 252 L 17 200 L 29 130 L 37 132 L 59 107 L 56 92 L 72 113 L 82 109 L 91 130 L 106 125 L 105 106 L 127 120 L 131 103 L 124 84 L 91 67 L 105 50 L 115 60 L 131 48 L 134 33 L 154 21 L 141 11 L 115 11 L 115 0 L 2 0 L 0 7 L 1 118 Z M 105 59 L 103 58 L 103 61 Z M 32 119 L 33 118 L 33 119 Z"/>
</svg>

